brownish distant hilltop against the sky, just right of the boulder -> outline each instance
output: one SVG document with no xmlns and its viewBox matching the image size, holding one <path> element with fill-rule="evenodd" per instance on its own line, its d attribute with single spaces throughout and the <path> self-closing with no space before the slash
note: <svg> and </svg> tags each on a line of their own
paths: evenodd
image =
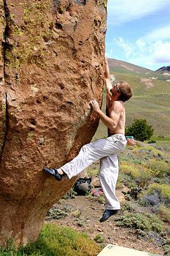
<svg viewBox="0 0 170 256">
<path fill-rule="evenodd" d="M 148 73 L 153 72 L 153 70 L 150 70 L 148 68 L 139 67 L 137 65 L 128 63 L 126 61 L 122 60 L 116 60 L 116 59 L 109 59 L 109 68 L 111 71 L 114 72 L 123 72 L 123 73 L 130 73 L 130 72 L 136 72 L 136 73 Z"/>
</svg>

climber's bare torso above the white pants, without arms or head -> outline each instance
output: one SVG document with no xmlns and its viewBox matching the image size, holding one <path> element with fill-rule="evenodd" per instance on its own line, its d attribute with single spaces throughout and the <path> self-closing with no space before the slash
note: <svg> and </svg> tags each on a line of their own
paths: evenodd
<svg viewBox="0 0 170 256">
<path fill-rule="evenodd" d="M 114 129 L 108 129 L 108 135 L 110 136 L 111 134 L 116 134 L 116 133 L 121 133 L 125 134 L 125 107 L 123 102 L 118 100 L 118 104 L 120 105 L 120 118 L 118 120 L 118 124 Z M 110 118 L 114 119 L 114 106 L 113 102 L 110 100 L 108 107 L 106 108 L 106 115 L 109 116 Z"/>
</svg>

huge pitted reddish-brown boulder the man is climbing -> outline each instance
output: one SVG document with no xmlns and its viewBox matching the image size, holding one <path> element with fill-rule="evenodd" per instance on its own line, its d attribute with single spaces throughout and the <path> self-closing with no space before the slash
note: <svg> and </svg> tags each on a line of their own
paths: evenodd
<svg viewBox="0 0 170 256">
<path fill-rule="evenodd" d="M 95 133 L 104 85 L 101 0 L 0 0 L 0 245 L 35 241 L 74 179 L 61 166 Z"/>
</svg>

